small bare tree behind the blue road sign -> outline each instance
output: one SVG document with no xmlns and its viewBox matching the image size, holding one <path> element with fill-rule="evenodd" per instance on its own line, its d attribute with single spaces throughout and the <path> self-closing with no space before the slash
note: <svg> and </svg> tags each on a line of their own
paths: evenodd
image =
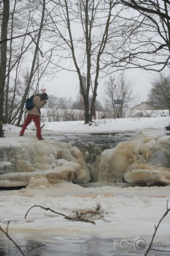
<svg viewBox="0 0 170 256">
<path fill-rule="evenodd" d="M 129 104 L 135 100 L 133 87 L 134 83 L 125 77 L 124 72 L 118 78 L 109 76 L 104 87 L 104 102 L 108 109 L 111 108 L 114 118 L 123 118 Z"/>
</svg>

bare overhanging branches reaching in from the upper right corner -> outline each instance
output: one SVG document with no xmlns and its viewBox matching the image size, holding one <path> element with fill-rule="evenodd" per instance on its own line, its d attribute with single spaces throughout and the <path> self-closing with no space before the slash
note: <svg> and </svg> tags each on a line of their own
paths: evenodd
<svg viewBox="0 0 170 256">
<path fill-rule="evenodd" d="M 170 1 L 120 0 L 129 14 L 124 18 L 138 24 L 122 48 L 119 68 L 162 71 L 170 67 Z M 137 32 L 137 33 L 136 33 Z M 109 64 L 112 65 L 112 62 Z"/>
</svg>

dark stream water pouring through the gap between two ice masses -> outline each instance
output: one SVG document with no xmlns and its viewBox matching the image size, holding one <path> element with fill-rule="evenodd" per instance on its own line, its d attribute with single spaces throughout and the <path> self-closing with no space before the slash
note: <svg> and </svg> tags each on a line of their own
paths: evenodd
<svg viewBox="0 0 170 256">
<path fill-rule="evenodd" d="M 105 149 L 114 148 L 119 142 L 130 140 L 133 133 L 119 134 L 65 134 L 51 137 L 52 140 L 70 143 L 81 151 L 91 176 L 91 182 L 98 181 L 99 160 Z"/>
</svg>

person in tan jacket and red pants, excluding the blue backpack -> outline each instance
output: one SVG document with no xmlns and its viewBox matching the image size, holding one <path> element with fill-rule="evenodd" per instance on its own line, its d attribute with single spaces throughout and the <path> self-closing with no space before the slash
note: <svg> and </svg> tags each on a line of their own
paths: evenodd
<svg viewBox="0 0 170 256">
<path fill-rule="evenodd" d="M 22 126 L 22 129 L 20 131 L 20 136 L 24 135 L 26 127 L 30 124 L 30 122 L 33 120 L 36 126 L 36 135 L 38 140 L 43 140 L 41 136 L 41 124 L 40 124 L 40 108 L 43 107 L 46 104 L 46 100 L 48 100 L 47 93 L 41 93 L 40 95 L 37 95 L 37 93 L 33 94 L 33 104 L 35 105 L 31 110 L 28 110 L 27 117 L 25 119 L 25 122 Z"/>
</svg>

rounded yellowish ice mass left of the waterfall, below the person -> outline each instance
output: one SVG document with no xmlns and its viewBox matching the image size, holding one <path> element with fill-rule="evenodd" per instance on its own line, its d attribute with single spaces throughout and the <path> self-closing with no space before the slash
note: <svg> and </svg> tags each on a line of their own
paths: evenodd
<svg viewBox="0 0 170 256">
<path fill-rule="evenodd" d="M 58 180 L 81 183 L 90 179 L 81 152 L 68 143 L 32 141 L 10 150 L 1 148 L 0 155 L 0 187 L 32 187 L 34 180 L 47 185 Z"/>
</svg>

